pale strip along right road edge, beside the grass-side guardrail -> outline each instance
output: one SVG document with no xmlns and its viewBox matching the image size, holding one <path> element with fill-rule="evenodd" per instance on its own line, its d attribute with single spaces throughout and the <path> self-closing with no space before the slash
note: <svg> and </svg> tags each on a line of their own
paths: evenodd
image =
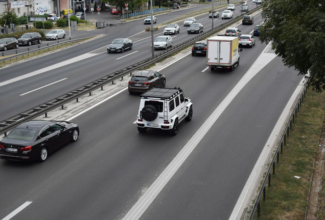
<svg viewBox="0 0 325 220">
<path fill-rule="evenodd" d="M 244 209 L 247 207 L 246 205 L 250 201 L 250 197 L 248 195 L 253 195 L 255 193 L 255 187 L 257 186 L 256 184 L 260 183 L 260 177 L 261 177 L 261 172 L 263 172 L 263 164 L 265 161 L 267 161 L 268 158 L 270 158 L 270 151 L 272 151 L 270 146 L 274 146 L 276 141 L 278 140 L 277 134 L 279 134 L 282 130 L 283 122 L 285 122 L 289 116 L 289 113 L 292 108 L 292 104 L 294 103 L 296 97 L 301 93 L 301 90 L 304 88 L 304 80 L 303 78 L 300 81 L 300 84 L 292 94 L 288 104 L 284 108 L 280 118 L 276 122 L 276 125 L 274 126 L 274 129 L 272 130 L 272 133 L 269 136 L 269 139 L 267 140 L 263 151 L 261 155 L 259 156 L 259 159 L 257 160 L 252 172 L 250 173 L 247 182 L 242 190 L 242 193 L 240 194 L 238 201 L 233 209 L 233 212 L 231 212 L 231 215 L 229 217 L 229 220 L 238 220 L 241 217 L 241 213 L 243 213 Z"/>
</svg>

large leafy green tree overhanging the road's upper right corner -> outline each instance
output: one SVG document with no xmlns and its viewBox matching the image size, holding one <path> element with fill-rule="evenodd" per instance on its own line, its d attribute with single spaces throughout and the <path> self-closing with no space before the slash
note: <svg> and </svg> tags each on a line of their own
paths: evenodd
<svg viewBox="0 0 325 220">
<path fill-rule="evenodd" d="M 319 0 L 264 0 L 260 41 L 270 43 L 286 66 L 325 89 L 325 4 Z"/>
</svg>

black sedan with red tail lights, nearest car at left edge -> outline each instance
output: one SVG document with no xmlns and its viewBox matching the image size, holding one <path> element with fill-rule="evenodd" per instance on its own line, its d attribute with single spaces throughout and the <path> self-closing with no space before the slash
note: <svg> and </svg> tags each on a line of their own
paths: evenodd
<svg viewBox="0 0 325 220">
<path fill-rule="evenodd" d="M 18 125 L 0 142 L 0 158 L 45 161 L 48 154 L 78 140 L 79 127 L 67 121 L 29 121 Z"/>
</svg>

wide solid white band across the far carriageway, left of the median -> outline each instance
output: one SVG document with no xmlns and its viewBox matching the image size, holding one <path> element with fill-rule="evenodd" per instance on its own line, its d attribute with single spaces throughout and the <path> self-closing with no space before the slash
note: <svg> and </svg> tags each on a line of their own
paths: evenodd
<svg viewBox="0 0 325 220">
<path fill-rule="evenodd" d="M 72 58 L 72 59 L 69 59 L 69 60 L 54 64 L 52 66 L 48 66 L 48 67 L 45 67 L 43 69 L 39 69 L 39 70 L 36 70 L 34 72 L 27 73 L 25 75 L 18 76 L 16 78 L 12 78 L 12 79 L 0 82 L 0 87 L 11 84 L 12 82 L 15 82 L 15 81 L 19 81 L 21 79 L 25 79 L 25 78 L 28 78 L 28 77 L 31 77 L 31 76 L 35 76 L 35 75 L 38 75 L 38 74 L 41 74 L 41 73 L 44 73 L 44 72 L 47 72 L 47 71 L 57 69 L 59 67 L 63 67 L 63 66 L 78 62 L 78 61 L 82 61 L 82 60 L 85 60 L 85 59 L 88 59 L 88 58 L 91 58 L 91 57 L 95 57 L 98 54 L 100 54 L 100 53 L 85 53 L 85 54 L 82 54 L 82 55 L 80 55 L 78 57 L 75 57 L 75 58 Z"/>
</svg>

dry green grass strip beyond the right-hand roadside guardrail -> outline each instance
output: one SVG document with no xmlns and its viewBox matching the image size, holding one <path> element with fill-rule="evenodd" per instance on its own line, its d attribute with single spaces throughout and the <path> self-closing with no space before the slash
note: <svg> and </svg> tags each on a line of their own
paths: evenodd
<svg viewBox="0 0 325 220">
<path fill-rule="evenodd" d="M 260 217 L 256 212 L 254 219 L 305 219 L 324 114 L 325 94 L 308 90 L 289 131 L 279 163 L 275 163 L 271 186 L 266 186 L 266 201 L 263 197 L 261 199 Z M 325 219 L 324 198 L 322 191 L 319 200 L 322 213 L 318 213 L 318 219 Z"/>
</svg>

